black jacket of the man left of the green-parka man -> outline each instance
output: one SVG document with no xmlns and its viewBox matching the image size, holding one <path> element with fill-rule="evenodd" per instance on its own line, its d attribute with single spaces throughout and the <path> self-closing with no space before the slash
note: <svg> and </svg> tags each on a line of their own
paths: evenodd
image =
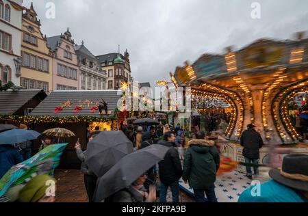
<svg viewBox="0 0 308 216">
<path fill-rule="evenodd" d="M 175 149 L 174 144 L 168 141 L 159 141 L 157 145 L 167 146 L 170 149 L 166 153 L 164 160 L 158 163 L 159 179 L 165 185 L 175 183 L 181 178 L 183 170 L 179 159 L 179 152 Z"/>
</svg>

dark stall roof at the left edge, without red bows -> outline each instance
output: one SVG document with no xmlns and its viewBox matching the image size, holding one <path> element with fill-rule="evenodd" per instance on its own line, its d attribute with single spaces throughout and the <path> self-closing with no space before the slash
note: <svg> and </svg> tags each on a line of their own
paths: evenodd
<svg viewBox="0 0 308 216">
<path fill-rule="evenodd" d="M 34 109 L 47 94 L 44 90 L 8 90 L 0 92 L 0 115 L 26 115 L 27 109 Z"/>
</svg>

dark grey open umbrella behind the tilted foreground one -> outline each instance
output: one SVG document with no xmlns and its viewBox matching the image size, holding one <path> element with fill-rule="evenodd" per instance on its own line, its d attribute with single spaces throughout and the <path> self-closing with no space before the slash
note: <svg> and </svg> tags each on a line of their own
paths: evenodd
<svg viewBox="0 0 308 216">
<path fill-rule="evenodd" d="M 97 176 L 103 176 L 125 155 L 133 152 L 133 144 L 122 131 L 101 131 L 88 143 L 86 164 Z"/>
</svg>

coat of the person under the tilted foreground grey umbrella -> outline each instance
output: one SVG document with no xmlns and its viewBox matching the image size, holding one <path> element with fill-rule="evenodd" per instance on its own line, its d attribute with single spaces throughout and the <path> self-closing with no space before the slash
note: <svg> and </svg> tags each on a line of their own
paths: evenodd
<svg viewBox="0 0 308 216">
<path fill-rule="evenodd" d="M 140 191 L 145 192 L 146 189 L 142 187 Z M 144 202 L 144 196 L 130 186 L 114 193 L 106 202 Z"/>
</svg>

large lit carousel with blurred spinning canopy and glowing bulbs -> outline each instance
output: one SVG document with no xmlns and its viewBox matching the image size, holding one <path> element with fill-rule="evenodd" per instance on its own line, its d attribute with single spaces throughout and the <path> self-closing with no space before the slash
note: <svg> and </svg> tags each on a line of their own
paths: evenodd
<svg viewBox="0 0 308 216">
<path fill-rule="evenodd" d="M 191 88 L 192 101 L 215 99 L 229 105 L 231 118 L 223 135 L 227 142 L 220 149 L 234 161 L 244 161 L 239 139 L 250 123 L 265 144 L 260 163 L 272 164 L 273 149 L 308 154 L 294 120 L 307 110 L 308 39 L 303 35 L 297 33 L 296 40 L 261 39 L 237 51 L 229 46 L 222 55 L 205 53 L 170 72 L 175 87 Z M 303 106 L 294 99 L 300 95 Z M 192 103 L 194 108 L 200 112 Z M 279 157 L 281 161 L 283 154 Z M 238 171 L 244 172 L 244 167 L 238 166 Z"/>
</svg>

